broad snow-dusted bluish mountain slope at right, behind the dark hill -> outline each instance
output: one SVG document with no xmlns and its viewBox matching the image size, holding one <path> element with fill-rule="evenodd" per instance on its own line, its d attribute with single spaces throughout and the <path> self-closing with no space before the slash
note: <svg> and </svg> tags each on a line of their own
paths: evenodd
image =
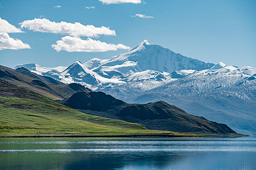
<svg viewBox="0 0 256 170">
<path fill-rule="evenodd" d="M 216 66 L 124 100 L 138 103 L 162 100 L 188 113 L 226 123 L 237 132 L 255 136 L 256 68 Z"/>
</svg>

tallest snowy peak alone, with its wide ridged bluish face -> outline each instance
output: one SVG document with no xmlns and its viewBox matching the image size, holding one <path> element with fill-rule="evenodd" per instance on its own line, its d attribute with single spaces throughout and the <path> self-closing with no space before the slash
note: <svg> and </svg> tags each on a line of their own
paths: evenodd
<svg viewBox="0 0 256 170">
<path fill-rule="evenodd" d="M 105 71 L 108 68 L 111 68 L 112 71 L 127 75 L 131 74 L 131 72 L 141 72 L 145 70 L 157 70 L 169 73 L 184 69 L 198 71 L 214 66 L 214 64 L 204 63 L 197 59 L 185 57 L 161 46 L 150 44 L 147 40 L 142 41 L 136 47 L 123 54 L 114 56 L 109 60 L 104 60 L 102 63 L 101 65 L 94 65 L 96 68 L 91 69 L 105 76 L 109 75 Z M 118 66 L 118 68 L 113 68 L 116 66 Z"/>
</svg>

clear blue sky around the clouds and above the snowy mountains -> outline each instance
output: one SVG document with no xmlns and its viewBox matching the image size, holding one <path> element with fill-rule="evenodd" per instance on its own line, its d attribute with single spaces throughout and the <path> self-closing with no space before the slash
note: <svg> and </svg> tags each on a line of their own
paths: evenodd
<svg viewBox="0 0 256 170">
<path fill-rule="evenodd" d="M 34 18 L 79 22 L 109 27 L 116 36 L 94 40 L 134 47 L 147 39 L 204 62 L 256 67 L 256 0 L 144 0 L 141 3 L 102 4 L 98 0 L 0 0 L 0 17 L 20 28 Z M 55 8 L 54 6 L 61 6 Z M 94 6 L 94 9 L 86 9 Z M 131 17 L 144 14 L 154 18 Z M 36 63 L 45 67 L 69 66 L 91 58 L 110 58 L 127 50 L 106 52 L 57 52 L 52 44 L 68 34 L 8 33 L 31 49 L 0 51 L 0 65 Z M 86 36 L 79 36 L 86 40 Z"/>
</svg>

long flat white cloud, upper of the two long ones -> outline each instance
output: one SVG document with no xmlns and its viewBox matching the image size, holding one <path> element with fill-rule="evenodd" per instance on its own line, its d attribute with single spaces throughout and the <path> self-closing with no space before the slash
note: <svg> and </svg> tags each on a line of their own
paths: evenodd
<svg viewBox="0 0 256 170">
<path fill-rule="evenodd" d="M 79 22 L 54 22 L 45 18 L 25 20 L 20 23 L 21 28 L 27 28 L 35 32 L 67 34 L 72 36 L 97 37 L 98 35 L 116 35 L 115 30 L 108 27 L 95 27 L 93 25 L 82 25 Z"/>
</svg>

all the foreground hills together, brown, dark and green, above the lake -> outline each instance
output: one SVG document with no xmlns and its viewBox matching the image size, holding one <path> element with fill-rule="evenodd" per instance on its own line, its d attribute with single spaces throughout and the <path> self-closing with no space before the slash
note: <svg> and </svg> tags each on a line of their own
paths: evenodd
<svg viewBox="0 0 256 170">
<path fill-rule="evenodd" d="M 4 80 L 21 86 L 23 85 L 25 88 L 12 85 Z M 101 127 L 107 130 L 106 133 L 110 133 L 113 132 L 113 128 L 116 129 L 115 132 L 118 131 L 118 127 L 119 131 L 122 131 L 120 128 L 122 127 L 129 129 L 129 131 L 133 133 L 142 133 L 142 131 L 148 133 L 143 126 L 139 124 L 129 124 L 124 121 L 119 121 L 125 120 L 132 123 L 141 122 L 151 130 L 164 130 L 161 132 L 173 130 L 177 133 L 196 133 L 207 136 L 242 136 L 236 134 L 236 132 L 227 125 L 189 115 L 176 106 L 169 105 L 165 102 L 128 104 L 110 95 L 106 95 L 103 92 L 93 92 L 82 85 L 62 85 L 62 83 L 56 80 L 55 84 L 51 84 L 47 81 L 53 80 L 32 73 L 26 68 L 12 70 L 1 67 L 0 121 L 3 123 L 1 128 L 37 128 L 44 129 L 45 131 L 45 129 L 51 128 L 73 129 L 79 126 L 83 131 L 96 132 L 98 131 L 97 128 Z M 68 88 L 74 91 L 80 91 L 60 102 L 66 106 L 80 109 L 86 114 L 82 115 L 81 112 L 70 110 L 69 107 L 64 107 L 34 92 L 39 90 L 39 92 L 43 94 L 46 93 L 47 90 L 44 89 L 46 88 L 53 93 L 54 89 L 52 88 L 54 85 L 58 85 L 57 87 L 59 88 L 61 88 L 61 85 L 63 86 L 60 90 L 56 89 L 55 95 L 58 94 L 59 96 L 61 96 L 61 92 L 66 93 L 65 90 L 68 90 Z M 30 91 L 29 89 L 34 91 Z M 112 119 L 88 116 L 88 114 Z M 73 123 L 68 123 L 67 120 Z M 56 124 L 54 125 L 53 122 L 55 121 Z M 81 124 L 81 122 L 84 122 L 85 125 Z M 149 131 L 149 133 L 154 132 Z"/>
</svg>

